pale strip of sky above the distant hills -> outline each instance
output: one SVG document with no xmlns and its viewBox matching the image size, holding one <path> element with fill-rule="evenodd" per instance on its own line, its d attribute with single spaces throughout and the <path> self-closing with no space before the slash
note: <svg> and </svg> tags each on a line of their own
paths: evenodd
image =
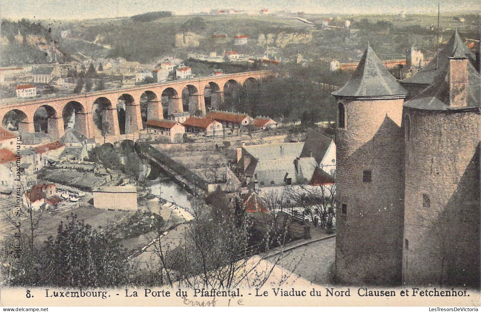
<svg viewBox="0 0 481 312">
<path fill-rule="evenodd" d="M 1 0 L 1 18 L 77 20 L 131 16 L 152 11 L 175 14 L 212 9 L 291 10 L 306 13 L 435 13 L 434 0 Z M 442 12 L 480 12 L 481 0 L 439 0 Z"/>
</svg>

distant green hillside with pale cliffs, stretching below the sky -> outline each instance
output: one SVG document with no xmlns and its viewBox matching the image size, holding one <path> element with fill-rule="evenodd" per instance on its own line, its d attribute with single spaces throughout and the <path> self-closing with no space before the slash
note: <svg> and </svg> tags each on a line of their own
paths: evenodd
<svg viewBox="0 0 481 312">
<path fill-rule="evenodd" d="M 329 15 L 305 15 L 306 19 L 317 23 L 315 26 L 269 14 L 168 15 L 150 12 L 131 18 L 37 24 L 25 20 L 2 21 L 1 66 L 48 62 L 53 47 L 61 52 L 61 61 L 122 57 L 151 63 L 164 56 L 186 58 L 191 52 L 221 53 L 223 50 L 262 56 L 269 47 L 271 53 L 284 60 L 295 60 L 301 53 L 309 61 L 349 62 L 359 59 L 367 41 L 381 59 L 388 60 L 404 58 L 405 49 L 411 45 L 426 51 L 429 57 L 436 40 L 435 32 L 427 28 L 435 23 L 435 17 L 430 15 L 407 15 L 403 21 L 394 15 L 336 16 L 331 17 L 333 25 L 349 19 L 351 29 L 327 30 L 322 29 L 320 23 Z M 442 40 L 449 38 L 454 27 L 461 36 L 479 39 L 476 23 L 479 15 L 466 15 L 465 19 L 460 22 L 452 16 L 442 16 Z M 33 38 L 35 41 L 37 36 L 38 42 L 20 44 L 15 39 L 19 28 L 25 40 Z M 248 43 L 234 45 L 236 34 L 247 35 Z M 213 38 L 217 35 L 225 37 Z"/>
</svg>

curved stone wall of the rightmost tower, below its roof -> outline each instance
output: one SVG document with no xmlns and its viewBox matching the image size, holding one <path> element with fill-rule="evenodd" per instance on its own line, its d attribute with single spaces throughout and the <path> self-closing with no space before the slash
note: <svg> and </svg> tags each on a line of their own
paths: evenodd
<svg viewBox="0 0 481 312">
<path fill-rule="evenodd" d="M 480 114 L 405 108 L 405 116 L 403 280 L 479 285 Z"/>
</svg>

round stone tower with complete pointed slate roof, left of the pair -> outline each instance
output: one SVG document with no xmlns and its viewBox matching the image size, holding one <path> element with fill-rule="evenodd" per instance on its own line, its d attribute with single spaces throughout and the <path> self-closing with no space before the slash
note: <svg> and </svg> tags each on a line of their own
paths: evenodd
<svg viewBox="0 0 481 312">
<path fill-rule="evenodd" d="M 404 216 L 406 90 L 368 45 L 337 99 L 336 276 L 399 284 Z"/>
</svg>

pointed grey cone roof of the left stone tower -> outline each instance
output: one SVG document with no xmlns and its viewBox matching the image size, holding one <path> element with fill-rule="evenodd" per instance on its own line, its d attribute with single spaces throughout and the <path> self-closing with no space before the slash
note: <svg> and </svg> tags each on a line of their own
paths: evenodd
<svg viewBox="0 0 481 312">
<path fill-rule="evenodd" d="M 355 98 L 402 98 L 407 91 L 388 72 L 372 48 L 367 45 L 351 79 L 333 96 Z"/>
</svg>

